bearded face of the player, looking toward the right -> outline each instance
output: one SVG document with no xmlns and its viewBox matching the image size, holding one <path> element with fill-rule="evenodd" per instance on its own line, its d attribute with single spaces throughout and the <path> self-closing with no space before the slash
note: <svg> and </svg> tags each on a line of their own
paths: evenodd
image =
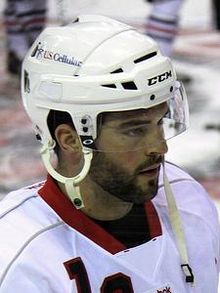
<svg viewBox="0 0 220 293">
<path fill-rule="evenodd" d="M 166 104 L 147 110 L 111 113 L 97 139 L 90 176 L 105 191 L 126 202 L 142 203 L 158 190 L 167 145 L 161 120 Z"/>
</svg>

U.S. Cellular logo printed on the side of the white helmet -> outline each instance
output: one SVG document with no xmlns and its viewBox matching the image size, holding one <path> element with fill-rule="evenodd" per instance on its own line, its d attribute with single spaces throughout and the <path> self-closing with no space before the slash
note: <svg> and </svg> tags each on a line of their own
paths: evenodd
<svg viewBox="0 0 220 293">
<path fill-rule="evenodd" d="M 82 66 L 82 61 L 75 59 L 73 56 L 68 56 L 66 54 L 45 50 L 40 42 L 33 50 L 31 57 L 35 57 L 38 60 L 46 59 L 78 67 Z"/>
</svg>

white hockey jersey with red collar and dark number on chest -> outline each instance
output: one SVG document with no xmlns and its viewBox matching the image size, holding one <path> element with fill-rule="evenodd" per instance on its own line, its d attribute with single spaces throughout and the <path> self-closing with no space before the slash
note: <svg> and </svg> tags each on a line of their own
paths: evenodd
<svg viewBox="0 0 220 293">
<path fill-rule="evenodd" d="M 167 174 L 195 276 L 185 282 L 162 182 L 146 204 L 151 240 L 126 247 L 76 210 L 53 180 L 0 203 L 1 293 L 216 293 L 219 223 L 205 190 L 171 164 Z"/>
</svg>

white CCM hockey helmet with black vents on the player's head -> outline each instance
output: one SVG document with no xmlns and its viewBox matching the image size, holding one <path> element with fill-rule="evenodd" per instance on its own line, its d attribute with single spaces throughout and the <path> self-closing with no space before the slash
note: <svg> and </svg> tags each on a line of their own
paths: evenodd
<svg viewBox="0 0 220 293">
<path fill-rule="evenodd" d="M 169 58 L 151 38 L 104 16 L 82 15 L 70 25 L 46 28 L 23 62 L 22 98 L 43 144 L 52 139 L 51 109 L 71 115 L 86 148 L 94 147 L 101 112 L 167 101 L 166 138 L 187 124 L 184 90 Z"/>
</svg>

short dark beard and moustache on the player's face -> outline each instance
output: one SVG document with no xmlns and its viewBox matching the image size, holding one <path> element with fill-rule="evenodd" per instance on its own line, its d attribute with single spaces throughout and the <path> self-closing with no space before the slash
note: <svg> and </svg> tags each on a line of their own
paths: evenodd
<svg viewBox="0 0 220 293">
<path fill-rule="evenodd" d="M 112 163 L 105 153 L 94 152 L 89 174 L 106 192 L 125 202 L 140 204 L 157 194 L 158 177 L 146 182 L 146 188 L 143 190 L 138 186 L 136 176 L 140 170 L 161 161 L 161 157 L 149 157 L 147 163 L 143 163 L 134 175 L 130 175 L 121 166 Z"/>
</svg>

